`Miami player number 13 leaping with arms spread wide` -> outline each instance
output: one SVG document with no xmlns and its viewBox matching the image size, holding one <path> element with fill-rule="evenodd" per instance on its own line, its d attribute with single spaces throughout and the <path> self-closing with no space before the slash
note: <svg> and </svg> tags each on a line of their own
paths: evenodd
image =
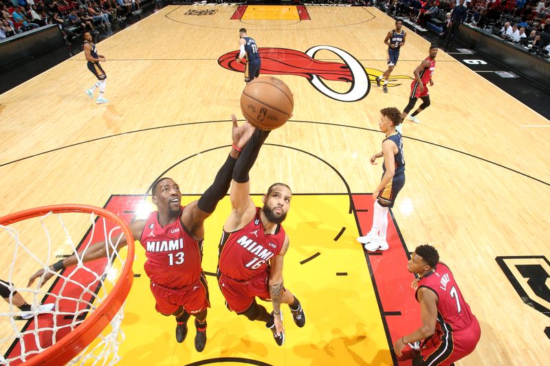
<svg viewBox="0 0 550 366">
<path fill-rule="evenodd" d="M 232 150 L 219 170 L 214 183 L 198 201 L 181 206 L 179 186 L 170 178 L 161 178 L 153 184 L 153 203 L 157 211 L 151 212 L 146 220 L 131 222 L 134 238 L 140 240 L 145 249 L 145 272 L 151 279 L 151 293 L 155 297 L 155 308 L 165 316 L 173 315 L 177 322 L 176 340 L 181 343 L 187 336 L 187 321 L 195 317 L 195 349 L 202 352 L 206 345 L 206 314 L 210 307 L 208 286 L 201 268 L 204 220 L 214 212 L 217 203 L 229 190 L 234 165 L 239 151 L 247 143 L 254 128 L 245 123 L 237 126 L 232 115 Z M 122 234 L 121 234 L 122 236 Z M 117 242 L 117 241 L 115 241 Z M 126 245 L 122 236 L 117 251 Z M 82 255 L 82 262 L 109 257 L 106 244 L 91 244 Z M 44 276 L 41 286 L 54 272 L 77 264 L 76 255 L 71 255 L 36 272 L 29 281 Z"/>
</svg>

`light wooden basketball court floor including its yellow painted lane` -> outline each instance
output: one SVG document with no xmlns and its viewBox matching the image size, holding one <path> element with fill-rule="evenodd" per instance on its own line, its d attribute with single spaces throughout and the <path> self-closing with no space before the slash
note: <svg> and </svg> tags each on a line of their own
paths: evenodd
<svg viewBox="0 0 550 366">
<path fill-rule="evenodd" d="M 271 52 L 271 72 L 294 92 L 294 116 L 270 135 L 251 183 L 254 194 L 274 181 L 296 194 L 287 219 L 285 285 L 303 302 L 307 325 L 298 329 L 287 317 L 287 341 L 277 347 L 261 324 L 225 309 L 209 277 L 208 343 L 197 354 L 192 327 L 185 343 L 175 342 L 173 319 L 155 312 L 142 276 L 126 303 L 120 364 L 204 365 L 236 357 L 269 365 L 391 365 L 388 338 L 419 322 L 403 263 L 406 249 L 423 242 L 437 247 L 481 323 L 478 347 L 457 365 L 547 364 L 549 121 L 440 50 L 432 104 L 419 115 L 422 124 L 403 126 L 406 185 L 392 211 L 391 249 L 366 256 L 355 237 L 369 219 L 357 210 L 362 194 L 380 181 L 382 168 L 369 163 L 383 137 L 379 111 L 406 106 L 410 76 L 428 56 L 428 43 L 408 32 L 385 94 L 369 84 L 386 69 L 383 40 L 393 28 L 379 10 L 307 7 L 311 20 L 254 13 L 232 20 L 236 10 L 168 6 L 98 43 L 107 57 L 109 104 L 85 95 L 95 80 L 82 53 L 0 95 L 1 216 L 54 203 L 102 207 L 112 195 L 146 194 L 163 174 L 196 198 L 228 153 L 230 115 L 242 118 L 243 74 L 221 58 L 238 49 L 240 27 Z M 303 54 L 353 82 L 327 76 Z M 292 70 L 283 70 L 288 63 Z M 318 76 L 323 70 L 325 78 Z M 223 201 L 208 220 L 206 271 L 215 270 L 227 213 Z M 35 251 L 45 258 L 43 246 Z M 300 264 L 316 252 L 318 258 Z M 12 263 L 6 253 L 3 268 Z M 137 248 L 135 273 L 143 273 L 143 262 Z M 388 266 L 405 277 L 388 277 L 380 269 Z M 12 279 L 26 283 L 35 267 L 17 264 Z M 401 308 L 403 321 L 387 313 L 395 310 L 384 303 L 388 293 L 410 302 Z"/>
</svg>

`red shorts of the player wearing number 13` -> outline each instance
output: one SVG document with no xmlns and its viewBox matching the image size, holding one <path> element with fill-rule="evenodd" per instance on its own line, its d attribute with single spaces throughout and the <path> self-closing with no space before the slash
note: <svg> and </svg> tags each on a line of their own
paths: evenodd
<svg viewBox="0 0 550 366">
<path fill-rule="evenodd" d="M 155 309 L 161 314 L 173 314 L 180 306 L 183 306 L 189 314 L 197 314 L 197 312 L 210 308 L 208 284 L 203 275 L 195 284 L 183 288 L 166 288 L 152 281 L 150 287 L 151 293 L 157 301 Z"/>
</svg>

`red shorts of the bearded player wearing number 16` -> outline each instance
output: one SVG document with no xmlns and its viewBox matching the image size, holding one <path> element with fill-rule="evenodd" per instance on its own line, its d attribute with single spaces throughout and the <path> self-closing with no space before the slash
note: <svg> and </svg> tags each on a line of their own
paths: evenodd
<svg viewBox="0 0 550 366">
<path fill-rule="evenodd" d="M 218 284 L 229 310 L 237 313 L 245 311 L 254 301 L 254 297 L 270 301 L 267 275 L 268 273 L 262 273 L 248 281 L 239 282 L 222 273 L 218 279 Z"/>
</svg>

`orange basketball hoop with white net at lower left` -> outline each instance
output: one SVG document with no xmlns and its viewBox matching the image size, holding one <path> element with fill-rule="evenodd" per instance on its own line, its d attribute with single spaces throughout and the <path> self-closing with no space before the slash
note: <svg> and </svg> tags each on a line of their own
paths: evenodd
<svg viewBox="0 0 550 366">
<path fill-rule="evenodd" d="M 31 247 L 33 242 L 37 242 L 40 245 L 35 247 L 39 249 L 35 252 L 45 252 L 44 239 L 39 237 L 42 230 L 40 227 L 25 225 L 23 221 L 26 220 L 30 220 L 31 224 L 36 220 L 40 221 L 48 245 L 45 258 L 44 255 L 33 253 Z M 21 229 L 14 228 L 14 224 L 21 225 Z M 85 237 L 76 246 L 69 235 L 69 230 L 74 227 L 83 230 L 87 227 Z M 32 314 L 32 319 L 22 330 L 23 323 L 18 325 L 14 321 L 17 314 L 21 314 L 19 308 L 10 303 L 9 313 L 0 312 L 1 326 L 4 327 L 9 321 L 14 333 L 7 338 L 5 333 L 0 335 L 0 346 L 3 347 L 0 364 L 65 365 L 83 363 L 87 359 L 102 360 L 102 364 L 108 365 L 118 362 L 118 343 L 124 339 L 124 334 L 120 330 L 120 323 L 124 317 L 123 304 L 133 282 L 134 239 L 126 222 L 99 207 L 50 205 L 1 217 L 0 228 L 3 229 L 0 230 L 2 238 L 9 236 L 14 242 L 12 266 L 8 268 L 9 281 L 13 284 L 10 290 L 17 290 L 27 300 L 32 298 L 35 308 L 39 305 L 39 297 L 42 296 L 44 303 L 55 304 L 53 310 L 41 314 L 35 310 L 36 314 Z M 25 241 L 23 236 L 29 233 L 32 239 Z M 116 238 L 118 233 L 122 233 L 120 238 L 126 238 L 128 252 L 125 259 L 115 250 L 118 241 L 113 242 L 113 238 Z M 56 234 L 59 234 L 59 238 L 54 237 Z M 98 241 L 105 242 L 107 258 L 83 263 L 80 255 L 85 253 L 89 244 Z M 5 245 L 6 243 L 3 243 L 3 247 Z M 27 282 L 21 282 L 22 275 L 18 281 L 14 281 L 14 272 L 17 272 L 14 267 L 18 259 L 25 257 L 23 268 L 30 271 L 28 274 L 25 273 L 28 279 L 37 269 L 46 269 L 56 261 L 56 253 L 52 253 L 52 247 L 57 247 L 56 251 L 61 247 L 65 253 L 69 250 L 63 249 L 63 246 L 70 246 L 70 254 L 76 253 L 78 264 L 67 267 L 61 273 L 54 273 L 54 280 L 48 282 L 48 285 L 51 284 L 50 289 L 47 289 L 47 286 L 40 288 L 43 277 L 39 279 L 38 284 L 33 284 L 32 289 L 23 287 Z M 5 250 L 9 251 L 10 248 Z M 29 263 L 30 258 L 34 262 Z M 19 262 L 17 268 L 21 267 Z M 49 269 L 47 271 L 53 272 Z M 118 271 L 120 275 L 117 276 Z M 8 275 L 0 273 L 2 278 Z M 29 293 L 32 297 L 27 295 Z M 111 329 L 107 328 L 109 324 Z M 93 345 L 90 345 L 91 343 Z M 5 352 L 7 346 L 9 350 Z"/>
</svg>

